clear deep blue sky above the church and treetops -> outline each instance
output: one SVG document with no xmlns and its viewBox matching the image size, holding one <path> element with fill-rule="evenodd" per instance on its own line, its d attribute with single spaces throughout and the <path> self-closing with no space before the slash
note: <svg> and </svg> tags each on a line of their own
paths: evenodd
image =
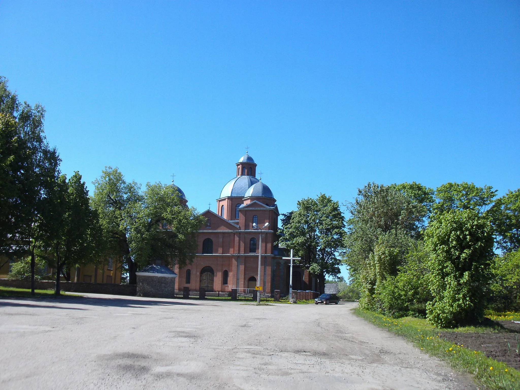
<svg viewBox="0 0 520 390">
<path fill-rule="evenodd" d="M 62 170 L 215 207 L 250 146 L 281 212 L 368 181 L 520 187 L 520 2 L 0 2 L 0 74 Z"/>
</svg>

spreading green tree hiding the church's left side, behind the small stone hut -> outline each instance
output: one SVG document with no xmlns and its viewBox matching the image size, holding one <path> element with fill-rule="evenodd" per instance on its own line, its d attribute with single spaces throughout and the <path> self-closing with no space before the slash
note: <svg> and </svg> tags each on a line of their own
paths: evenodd
<svg viewBox="0 0 520 390">
<path fill-rule="evenodd" d="M 127 183 L 118 168 L 106 167 L 94 181 L 93 205 L 105 237 L 105 256 L 121 256 L 129 283 L 139 267 L 157 259 L 181 267 L 197 250 L 197 231 L 204 217 L 184 206 L 173 186 Z M 162 228 L 165 223 L 166 228 Z"/>
</svg>

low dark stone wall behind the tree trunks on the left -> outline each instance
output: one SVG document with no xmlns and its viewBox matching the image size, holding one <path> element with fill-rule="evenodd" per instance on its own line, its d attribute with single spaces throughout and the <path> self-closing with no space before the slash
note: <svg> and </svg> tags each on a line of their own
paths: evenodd
<svg viewBox="0 0 520 390">
<path fill-rule="evenodd" d="M 54 290 L 55 282 L 41 280 L 35 283 L 36 290 Z M 18 289 L 30 289 L 30 280 L 0 279 L 0 285 L 15 287 Z M 60 290 L 68 292 L 110 294 L 110 295 L 135 295 L 135 284 L 111 284 L 111 283 L 85 283 L 85 282 L 60 282 Z"/>
</svg>

